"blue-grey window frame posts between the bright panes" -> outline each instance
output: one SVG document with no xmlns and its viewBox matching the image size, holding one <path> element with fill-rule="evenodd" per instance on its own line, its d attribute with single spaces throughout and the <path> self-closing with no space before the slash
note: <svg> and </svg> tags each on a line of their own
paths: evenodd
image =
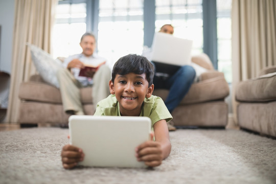
<svg viewBox="0 0 276 184">
<path fill-rule="evenodd" d="M 98 37 L 100 0 L 63 0 L 58 4 L 86 3 L 86 30 Z M 217 5 L 216 0 L 202 0 L 203 52 L 218 69 Z M 155 32 L 155 0 L 144 0 L 144 45 L 151 47 Z"/>
</svg>

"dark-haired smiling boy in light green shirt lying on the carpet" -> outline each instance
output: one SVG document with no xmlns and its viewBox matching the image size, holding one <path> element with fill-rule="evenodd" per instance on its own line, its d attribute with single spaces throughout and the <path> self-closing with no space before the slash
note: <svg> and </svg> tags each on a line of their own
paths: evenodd
<svg viewBox="0 0 276 184">
<path fill-rule="evenodd" d="M 152 96 L 154 67 L 147 58 L 138 55 L 121 57 L 113 66 L 109 81 L 111 95 L 97 104 L 94 116 L 145 116 L 152 122 L 151 141 L 136 147 L 137 160 L 149 167 L 162 164 L 169 156 L 171 143 L 167 122 L 172 119 L 163 100 Z M 153 136 L 155 141 L 153 141 Z M 80 148 L 65 145 L 62 165 L 71 169 L 84 158 Z"/>
</svg>

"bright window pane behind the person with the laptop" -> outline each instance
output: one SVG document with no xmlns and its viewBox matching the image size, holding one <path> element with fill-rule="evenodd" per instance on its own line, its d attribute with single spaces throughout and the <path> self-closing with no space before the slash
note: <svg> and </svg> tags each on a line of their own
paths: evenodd
<svg viewBox="0 0 276 184">
<path fill-rule="evenodd" d="M 171 24 L 174 36 L 193 40 L 192 54 L 203 52 L 202 0 L 156 0 L 155 6 L 156 32 L 163 25 Z"/>
</svg>

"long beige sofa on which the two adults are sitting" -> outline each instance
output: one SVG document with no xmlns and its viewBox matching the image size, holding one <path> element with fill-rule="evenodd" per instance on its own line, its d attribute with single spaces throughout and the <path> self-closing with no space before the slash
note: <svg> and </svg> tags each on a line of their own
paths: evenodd
<svg viewBox="0 0 276 184">
<path fill-rule="evenodd" d="M 174 123 L 176 126 L 225 127 L 228 109 L 224 98 L 228 96 L 229 88 L 224 75 L 213 69 L 205 54 L 194 56 L 192 61 L 207 68 L 208 72 L 201 74 L 200 81 L 191 86 L 172 112 Z M 165 100 L 168 90 L 154 90 L 153 95 Z M 59 89 L 45 83 L 39 75 L 21 83 L 19 98 L 20 124 L 58 125 L 68 122 L 69 116 L 63 111 Z M 92 104 L 91 87 L 81 89 L 81 100 L 85 114 L 93 115 L 95 106 Z"/>
</svg>

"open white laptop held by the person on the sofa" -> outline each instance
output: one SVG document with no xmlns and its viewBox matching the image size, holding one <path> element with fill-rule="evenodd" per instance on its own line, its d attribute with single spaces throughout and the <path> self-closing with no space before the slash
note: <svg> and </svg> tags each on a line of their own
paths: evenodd
<svg viewBox="0 0 276 184">
<path fill-rule="evenodd" d="M 157 73 L 173 75 L 180 66 L 191 63 L 193 41 L 157 32 L 152 42 L 152 62 Z"/>
</svg>

